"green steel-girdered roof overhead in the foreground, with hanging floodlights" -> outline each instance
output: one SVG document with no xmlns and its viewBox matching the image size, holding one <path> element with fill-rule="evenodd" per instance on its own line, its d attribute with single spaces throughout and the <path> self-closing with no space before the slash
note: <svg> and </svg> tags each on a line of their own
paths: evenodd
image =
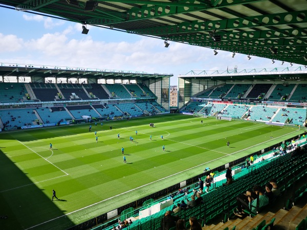
<svg viewBox="0 0 307 230">
<path fill-rule="evenodd" d="M 307 64 L 306 0 L 0 0 L 2 7 Z M 81 27 L 81 25 L 80 25 Z M 213 52 L 212 52 L 213 55 Z"/>
</svg>

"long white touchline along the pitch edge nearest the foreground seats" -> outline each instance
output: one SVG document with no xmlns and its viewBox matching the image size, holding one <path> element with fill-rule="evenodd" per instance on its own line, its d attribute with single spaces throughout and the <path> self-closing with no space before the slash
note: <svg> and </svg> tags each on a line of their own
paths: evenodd
<svg viewBox="0 0 307 230">
<path fill-rule="evenodd" d="M 295 132 L 295 131 L 293 131 L 293 132 Z M 290 132 L 290 133 L 292 133 L 292 132 Z M 287 134 L 290 134 L 290 133 L 287 133 Z M 287 134 L 284 134 L 284 135 L 287 135 Z M 284 135 L 281 135 L 281 136 L 284 136 Z M 279 137 L 281 137 L 281 136 L 279 136 Z M 278 137 L 276 137 L 276 138 L 278 138 Z M 271 139 L 271 140 L 273 140 L 273 139 Z M 271 141 L 271 140 L 269 140 L 269 141 Z M 268 141 L 266 141 L 266 142 L 268 142 Z M 266 142 L 262 142 L 262 143 L 266 143 Z M 260 144 L 262 144 L 262 143 L 260 143 Z M 257 144 L 257 145 L 260 145 L 260 144 Z M 254 145 L 254 146 L 257 146 L 257 145 Z M 251 146 L 251 147 L 254 147 L 254 146 Z M 197 146 L 196 146 L 196 147 L 197 147 Z M 248 147 L 248 148 L 246 148 L 246 149 L 249 149 L 249 148 L 251 148 L 251 147 Z M 246 149 L 243 149 L 243 150 L 246 150 Z M 240 150 L 240 151 L 243 151 L 243 150 Z M 212 151 L 212 150 L 211 150 L 211 151 Z M 240 151 L 237 151 L 237 152 L 240 152 Z M 233 155 L 233 154 L 235 154 L 235 153 L 237 153 L 237 152 L 233 152 L 233 153 L 228 154 L 228 155 Z M 208 163 L 210 163 L 210 162 L 214 162 L 215 160 L 218 160 L 218 159 L 224 158 L 224 157 L 226 157 L 226 156 L 228 156 L 228 155 L 221 156 L 221 157 L 218 157 L 218 158 L 215 158 L 215 159 L 209 160 L 208 162 L 205 162 L 205 163 L 202 163 L 202 164 L 200 164 L 200 165 L 197 165 L 197 166 L 191 167 L 191 168 L 189 168 L 189 169 L 185 169 L 185 170 L 183 170 L 183 171 L 181 171 L 181 172 L 177 172 L 177 173 L 174 173 L 174 174 L 172 174 L 172 175 L 169 175 L 169 176 L 166 176 L 166 177 L 160 178 L 160 179 L 158 179 L 158 180 L 155 180 L 155 181 L 152 181 L 152 182 L 146 183 L 146 185 L 139 186 L 139 187 L 137 187 L 137 188 L 134 188 L 134 189 L 128 190 L 128 191 L 126 191 L 126 192 L 120 193 L 120 194 L 115 195 L 115 196 L 113 196 L 113 197 L 109 197 L 109 198 L 106 198 L 106 199 L 101 200 L 101 201 L 99 201 L 99 202 L 96 202 L 96 203 L 93 203 L 93 204 L 87 205 L 87 206 L 85 206 L 85 207 L 83 207 L 83 208 L 81 208 L 81 209 L 78 209 L 78 210 L 75 210 L 75 211 L 73 211 L 73 212 L 70 212 L 70 213 L 67 213 L 67 214 L 64 214 L 64 215 L 58 216 L 58 217 L 56 217 L 56 218 L 53 218 L 53 219 L 51 219 L 51 220 L 47 220 L 47 221 L 45 221 L 45 222 L 42 222 L 42 223 L 36 224 L 36 225 L 34 225 L 34 226 L 32 226 L 32 227 L 29 227 L 29 228 L 27 228 L 27 229 L 25 229 L 25 230 L 28 230 L 28 229 L 31 229 L 31 228 L 34 228 L 34 227 L 40 226 L 40 225 L 42 225 L 42 224 L 45 224 L 45 223 L 51 222 L 51 221 L 53 221 L 53 220 L 57 220 L 57 219 L 59 219 L 59 218 L 61 218 L 61 217 L 68 216 L 68 215 L 70 215 L 70 214 L 73 214 L 73 213 L 79 212 L 79 211 L 81 211 L 81 210 L 88 209 L 88 208 L 90 208 L 90 207 L 92 207 L 92 206 L 94 206 L 94 205 L 96 205 L 96 204 L 99 204 L 99 203 L 102 203 L 102 202 L 104 202 L 104 201 L 107 201 L 107 200 L 113 199 L 113 198 L 118 197 L 118 196 L 121 196 L 121 195 L 123 195 L 123 194 L 129 193 L 129 192 L 132 192 L 132 191 L 134 191 L 134 190 L 137 190 L 137 189 L 140 189 L 140 188 L 146 187 L 146 186 L 148 186 L 148 185 L 151 185 L 152 183 L 156 183 L 156 182 L 158 182 L 158 181 L 160 181 L 160 180 L 164 180 L 164 179 L 169 178 L 169 177 L 171 177 L 171 176 L 178 175 L 178 174 L 180 174 L 180 173 L 183 173 L 183 172 L 189 171 L 189 170 L 191 170 L 191 169 L 194 169 L 194 168 L 197 168 L 197 167 L 203 166 L 203 165 L 208 164 Z"/>
</svg>

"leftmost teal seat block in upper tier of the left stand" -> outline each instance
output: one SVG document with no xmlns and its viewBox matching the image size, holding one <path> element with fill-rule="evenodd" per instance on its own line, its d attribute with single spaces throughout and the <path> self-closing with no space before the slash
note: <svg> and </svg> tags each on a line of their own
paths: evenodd
<svg viewBox="0 0 307 230">
<path fill-rule="evenodd" d="M 28 91 L 23 83 L 0 83 L 0 102 L 1 103 L 16 103 L 26 100 L 24 98 Z"/>
</svg>

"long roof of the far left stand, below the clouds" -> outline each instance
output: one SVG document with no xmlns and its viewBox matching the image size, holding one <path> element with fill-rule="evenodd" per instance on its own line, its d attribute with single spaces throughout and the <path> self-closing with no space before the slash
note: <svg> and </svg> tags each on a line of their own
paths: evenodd
<svg viewBox="0 0 307 230">
<path fill-rule="evenodd" d="M 172 74 L 149 74 L 142 71 L 102 70 L 99 68 L 0 63 L 0 76 L 36 78 L 136 79 L 169 78 Z"/>
</svg>

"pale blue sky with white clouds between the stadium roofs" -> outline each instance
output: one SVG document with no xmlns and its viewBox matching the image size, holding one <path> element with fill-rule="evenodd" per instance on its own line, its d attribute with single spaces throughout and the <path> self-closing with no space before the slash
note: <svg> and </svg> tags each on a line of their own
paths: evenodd
<svg viewBox="0 0 307 230">
<path fill-rule="evenodd" d="M 225 71 L 253 68 L 290 67 L 290 63 L 232 52 L 217 51 L 179 42 L 128 34 L 82 25 L 0 7 L 0 62 L 56 65 L 109 70 L 143 71 L 173 74 L 171 85 L 178 85 L 178 75 L 190 71 Z M 300 65 L 293 64 L 294 68 Z"/>
</svg>

